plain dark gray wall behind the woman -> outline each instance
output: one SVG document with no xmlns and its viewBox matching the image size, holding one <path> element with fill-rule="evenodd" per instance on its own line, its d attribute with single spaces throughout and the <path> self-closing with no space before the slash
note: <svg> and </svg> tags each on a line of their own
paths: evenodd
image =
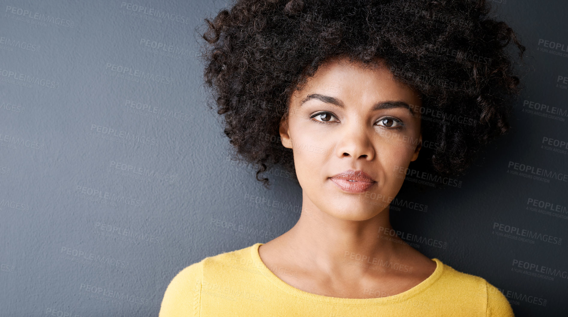
<svg viewBox="0 0 568 317">
<path fill-rule="evenodd" d="M 512 269 L 524 261 L 567 274 L 568 179 L 523 177 L 515 164 L 568 173 L 568 4 L 499 2 L 532 65 L 511 133 L 481 155 L 461 187 L 402 195 L 426 211 L 403 206 L 391 214 L 398 230 L 444 241 L 444 248 L 417 248 L 486 278 L 512 300 L 516 316 L 559 316 L 568 278 Z M 294 180 L 273 176 L 273 190 L 265 190 L 254 166 L 227 160 L 228 141 L 204 104 L 194 29 L 227 3 L 130 4 L 178 20 L 133 16 L 121 1 L 2 1 L 2 316 L 156 316 L 179 270 L 271 240 L 299 217 Z M 145 51 L 153 42 L 173 52 Z M 124 67 L 156 81 L 132 81 L 139 77 L 121 76 Z M 253 196 L 296 208 L 250 203 Z M 260 233 L 228 235 L 215 219 Z M 562 243 L 511 239 L 502 235 L 507 226 Z M 90 298 L 91 287 L 125 295 Z"/>
</svg>

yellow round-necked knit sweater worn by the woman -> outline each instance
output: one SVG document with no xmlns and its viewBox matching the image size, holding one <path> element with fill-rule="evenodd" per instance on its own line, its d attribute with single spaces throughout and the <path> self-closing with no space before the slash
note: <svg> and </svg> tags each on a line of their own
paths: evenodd
<svg viewBox="0 0 568 317">
<path fill-rule="evenodd" d="M 434 273 L 403 293 L 339 298 L 308 293 L 280 280 L 262 262 L 260 245 L 206 257 L 181 270 L 164 293 L 159 317 L 514 316 L 495 286 L 437 258 L 432 259 L 437 264 Z"/>
</svg>

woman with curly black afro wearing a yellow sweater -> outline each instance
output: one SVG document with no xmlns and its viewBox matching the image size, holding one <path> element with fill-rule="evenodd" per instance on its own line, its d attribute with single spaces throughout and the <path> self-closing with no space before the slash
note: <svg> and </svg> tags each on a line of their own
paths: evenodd
<svg viewBox="0 0 568 317">
<path fill-rule="evenodd" d="M 297 177 L 302 212 L 277 239 L 181 270 L 160 317 L 513 316 L 483 278 L 385 234 L 424 140 L 432 173 L 455 177 L 509 128 L 519 80 L 504 47 L 524 47 L 488 12 L 485 1 L 249 0 L 206 19 L 204 76 L 225 134 L 265 186 L 268 165 Z"/>
</svg>

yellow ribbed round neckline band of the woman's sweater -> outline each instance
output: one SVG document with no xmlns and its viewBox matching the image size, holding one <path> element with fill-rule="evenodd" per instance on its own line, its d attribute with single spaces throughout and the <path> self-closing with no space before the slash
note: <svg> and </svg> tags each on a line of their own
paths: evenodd
<svg viewBox="0 0 568 317">
<path fill-rule="evenodd" d="M 296 289 L 296 287 L 287 284 L 286 282 L 282 281 L 278 276 L 276 276 L 269 268 L 266 266 L 262 259 L 260 258 L 260 253 L 258 253 L 258 248 L 264 243 L 255 243 L 250 248 L 251 256 L 254 260 L 258 261 L 260 265 L 257 265 L 257 268 L 260 268 L 264 271 L 264 276 L 268 278 L 270 282 L 272 282 L 275 286 L 279 289 L 285 291 L 286 293 L 292 294 L 296 297 L 300 297 L 303 299 L 307 299 L 308 301 L 320 302 L 320 303 L 328 303 L 334 305 L 383 305 L 383 304 L 391 304 L 395 302 L 404 301 L 408 298 L 411 298 L 422 291 L 428 289 L 430 285 L 432 285 L 444 271 L 444 264 L 438 258 L 432 258 L 431 260 L 436 262 L 436 269 L 434 272 L 426 278 L 424 281 L 420 282 L 418 285 L 412 287 L 409 290 L 403 291 L 402 293 L 386 296 L 386 297 L 375 297 L 375 298 L 341 298 L 341 297 L 330 297 L 325 295 L 319 295 L 314 293 L 309 293 L 307 291 L 303 291 L 300 289 Z"/>
</svg>

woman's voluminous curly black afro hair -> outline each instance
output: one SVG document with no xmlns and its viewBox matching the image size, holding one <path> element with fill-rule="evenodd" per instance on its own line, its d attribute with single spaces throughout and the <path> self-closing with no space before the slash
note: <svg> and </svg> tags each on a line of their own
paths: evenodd
<svg viewBox="0 0 568 317">
<path fill-rule="evenodd" d="M 421 94 L 427 168 L 457 177 L 509 129 L 520 93 L 506 47 L 521 60 L 525 47 L 490 12 L 485 0 L 237 0 L 200 33 L 208 106 L 224 114 L 232 157 L 257 164 L 268 187 L 259 174 L 270 165 L 295 176 L 278 132 L 291 93 L 330 57 L 380 59 Z"/>
</svg>

